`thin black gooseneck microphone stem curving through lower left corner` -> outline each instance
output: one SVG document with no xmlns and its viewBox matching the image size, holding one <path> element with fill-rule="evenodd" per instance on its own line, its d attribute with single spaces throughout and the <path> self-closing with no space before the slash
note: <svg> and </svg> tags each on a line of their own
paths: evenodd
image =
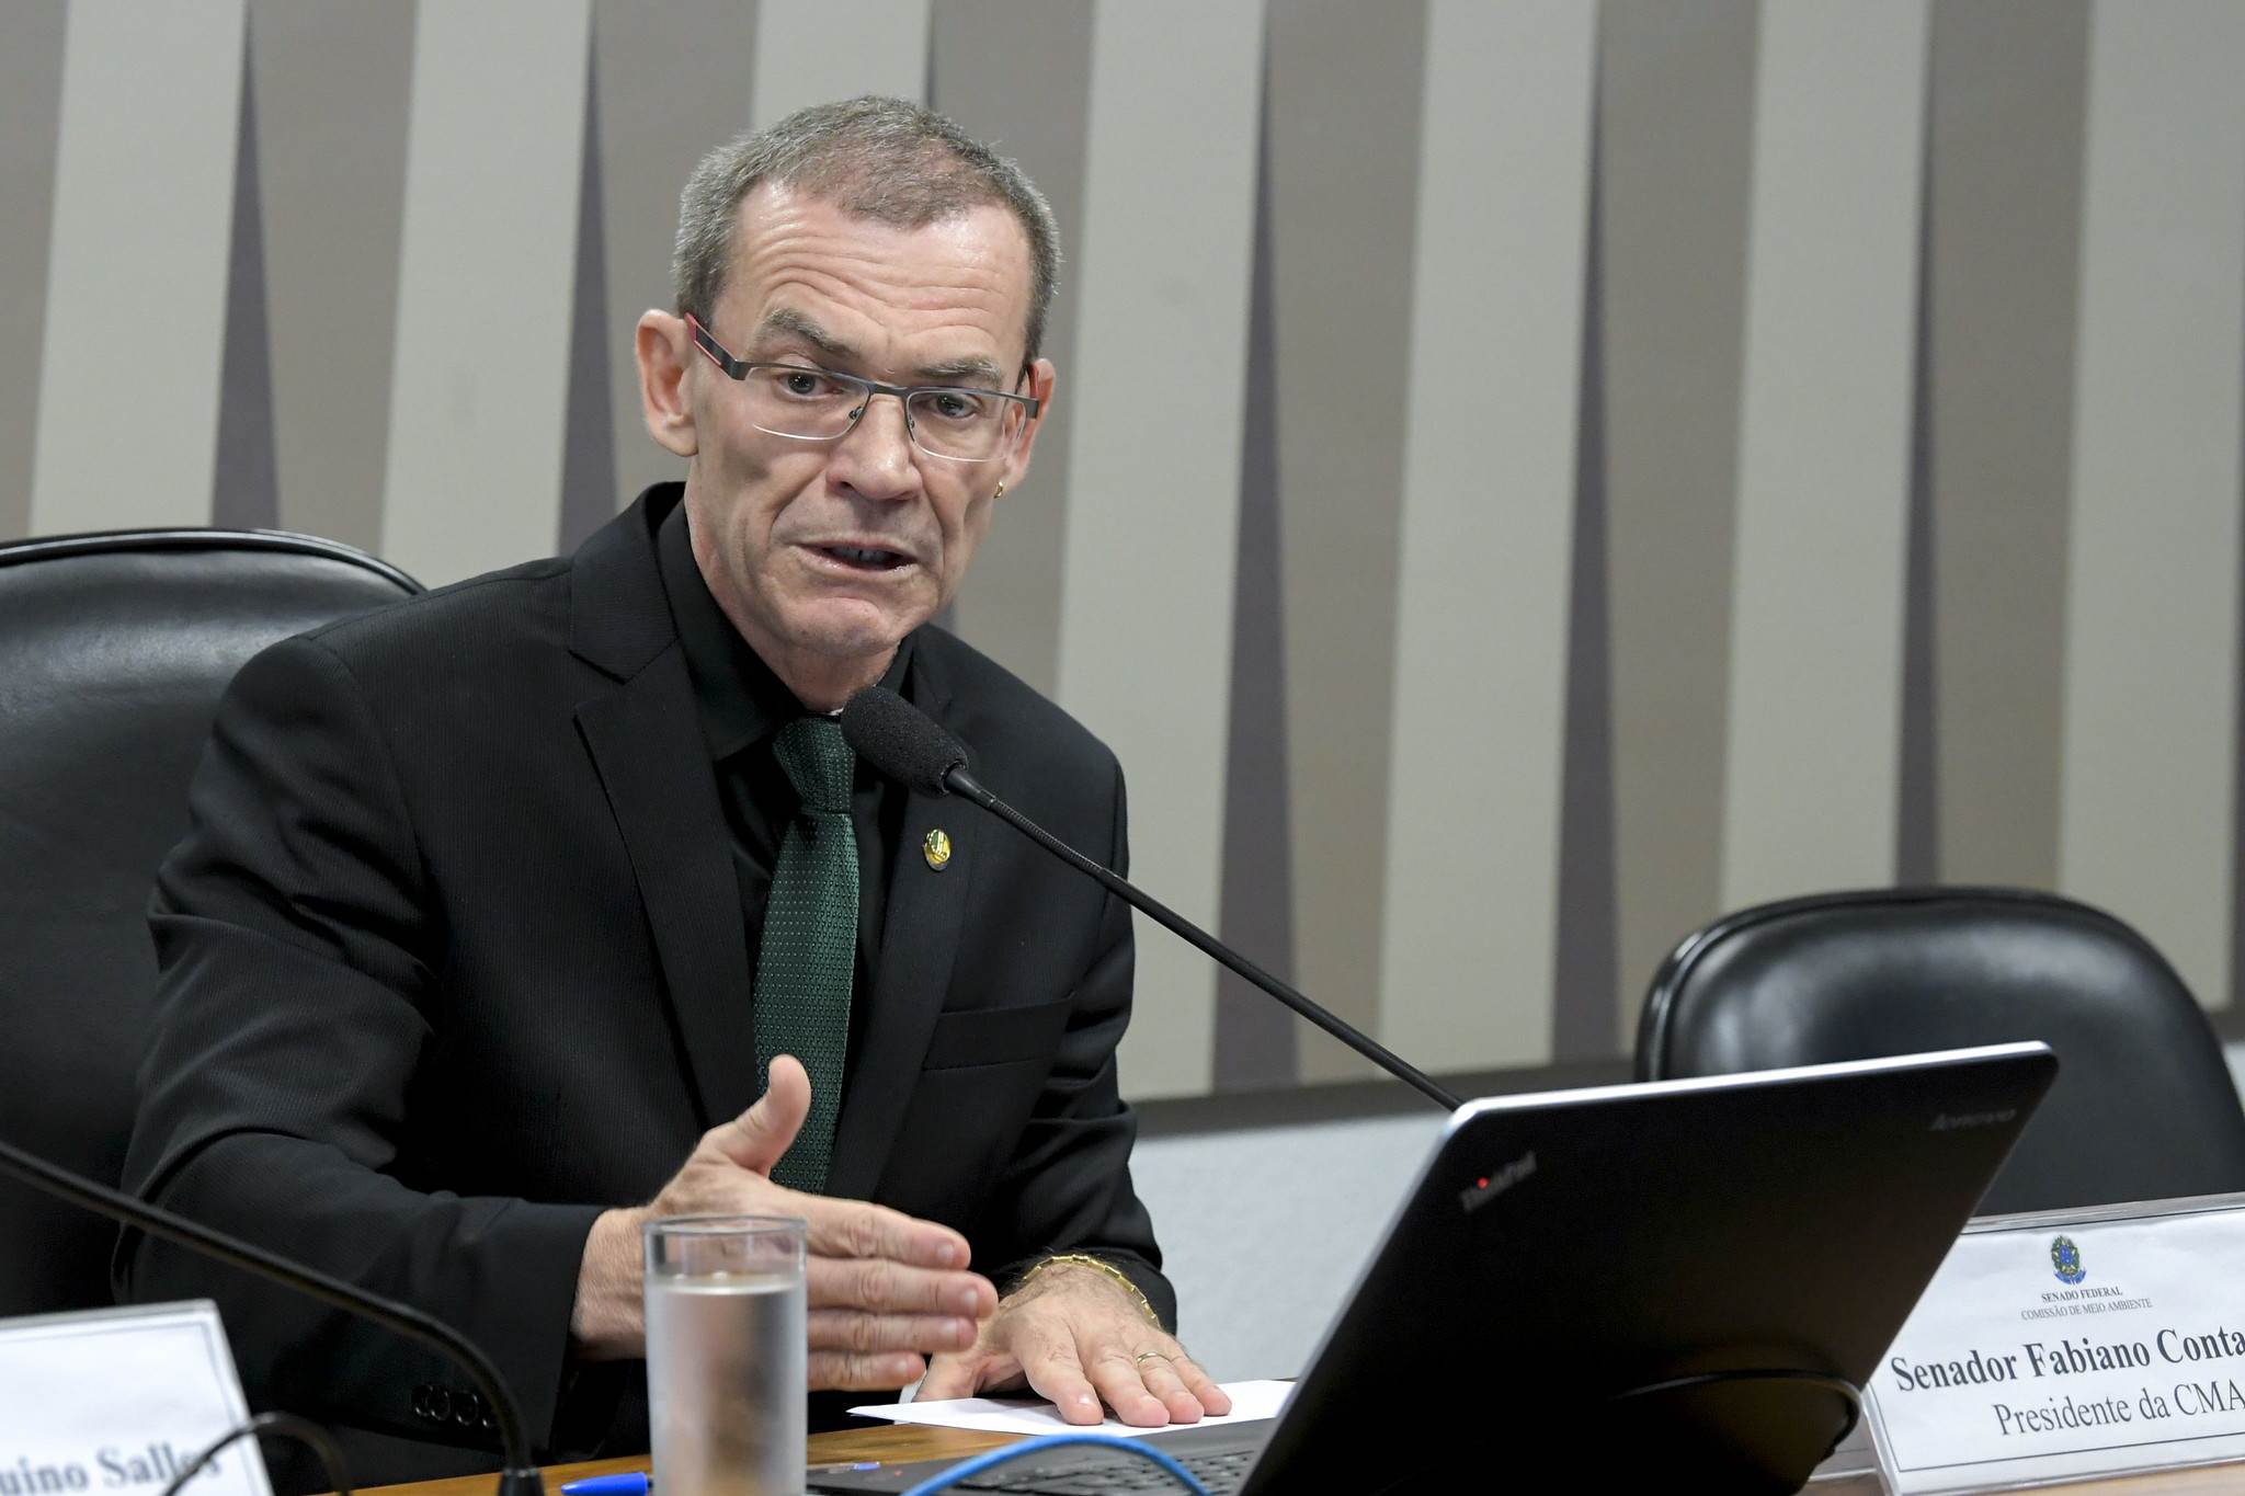
<svg viewBox="0 0 2245 1496">
<path fill-rule="evenodd" d="M 200 1252 L 207 1258 L 240 1267 L 251 1276 L 310 1294 L 330 1308 L 357 1314 L 359 1319 L 373 1321 L 384 1330 L 445 1352 L 467 1370 L 476 1391 L 492 1406 L 492 1413 L 498 1420 L 498 1444 L 505 1465 L 498 1471 L 498 1496 L 543 1496 L 546 1485 L 539 1480 L 539 1467 L 530 1460 L 530 1442 L 523 1438 L 523 1411 L 521 1404 L 514 1402 L 514 1391 L 507 1388 L 498 1368 L 492 1366 L 492 1359 L 483 1355 L 480 1346 L 433 1314 L 424 1314 L 422 1310 L 415 1310 L 409 1303 L 397 1303 L 395 1299 L 370 1294 L 364 1287 L 343 1283 L 341 1278 L 323 1274 L 317 1267 L 292 1263 L 278 1252 L 267 1252 L 265 1247 L 245 1243 L 238 1236 L 213 1231 L 211 1227 L 193 1222 L 177 1211 L 166 1211 L 159 1204 L 135 1200 L 121 1189 L 97 1184 L 94 1180 L 81 1178 L 61 1164 L 49 1164 L 36 1153 L 27 1153 L 7 1139 L 0 1139 L 0 1175 L 29 1184 L 31 1189 L 58 1200 L 67 1200 L 70 1204 L 92 1211 L 94 1216 L 108 1216 L 110 1220 L 146 1231 L 148 1236 L 157 1236 L 186 1247 L 189 1252 Z"/>
</svg>

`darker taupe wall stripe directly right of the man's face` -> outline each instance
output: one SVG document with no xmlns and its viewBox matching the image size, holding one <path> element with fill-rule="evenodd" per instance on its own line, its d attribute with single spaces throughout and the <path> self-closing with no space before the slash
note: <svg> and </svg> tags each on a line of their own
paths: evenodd
<svg viewBox="0 0 2245 1496">
<path fill-rule="evenodd" d="M 954 603 L 959 632 L 1046 695 L 1060 677 L 1060 565 L 1075 431 L 1075 267 L 1084 227 L 1084 92 L 1091 4 L 945 0 L 934 13 L 929 105 L 1019 161 L 1060 220 L 1060 296 L 1044 357 L 1060 366 L 1037 467 L 999 502 Z"/>
</svg>

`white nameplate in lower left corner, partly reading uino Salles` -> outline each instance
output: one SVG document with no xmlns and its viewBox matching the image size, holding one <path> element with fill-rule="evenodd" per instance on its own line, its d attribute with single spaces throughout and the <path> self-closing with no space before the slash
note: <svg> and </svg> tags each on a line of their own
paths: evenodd
<svg viewBox="0 0 2245 1496">
<path fill-rule="evenodd" d="M 218 1305 L 0 1319 L 0 1496 L 157 1496 L 249 1420 Z M 229 1444 L 193 1496 L 272 1496 L 258 1442 Z"/>
</svg>

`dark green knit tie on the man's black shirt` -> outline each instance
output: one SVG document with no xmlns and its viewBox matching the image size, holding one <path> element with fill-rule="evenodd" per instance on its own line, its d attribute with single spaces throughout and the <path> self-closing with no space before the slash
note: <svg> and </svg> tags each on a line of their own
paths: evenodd
<svg viewBox="0 0 2245 1496">
<path fill-rule="evenodd" d="M 858 758 L 831 718 L 799 718 L 772 740 L 801 810 L 788 819 L 757 949 L 757 1070 L 792 1054 L 810 1072 L 810 1115 L 772 1169 L 788 1189 L 817 1191 L 835 1148 L 849 991 L 858 969 L 858 832 L 849 819 Z"/>
</svg>

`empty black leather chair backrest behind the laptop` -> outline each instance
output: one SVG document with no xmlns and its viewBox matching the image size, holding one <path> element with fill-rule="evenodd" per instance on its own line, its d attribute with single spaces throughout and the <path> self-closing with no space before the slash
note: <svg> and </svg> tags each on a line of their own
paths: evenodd
<svg viewBox="0 0 2245 1496">
<path fill-rule="evenodd" d="M 2041 1038 L 2059 1079 L 1982 1213 L 2245 1191 L 2245 1108 L 2133 929 L 2014 888 L 1870 888 L 1688 935 L 1646 996 L 1643 1079 Z"/>
</svg>

